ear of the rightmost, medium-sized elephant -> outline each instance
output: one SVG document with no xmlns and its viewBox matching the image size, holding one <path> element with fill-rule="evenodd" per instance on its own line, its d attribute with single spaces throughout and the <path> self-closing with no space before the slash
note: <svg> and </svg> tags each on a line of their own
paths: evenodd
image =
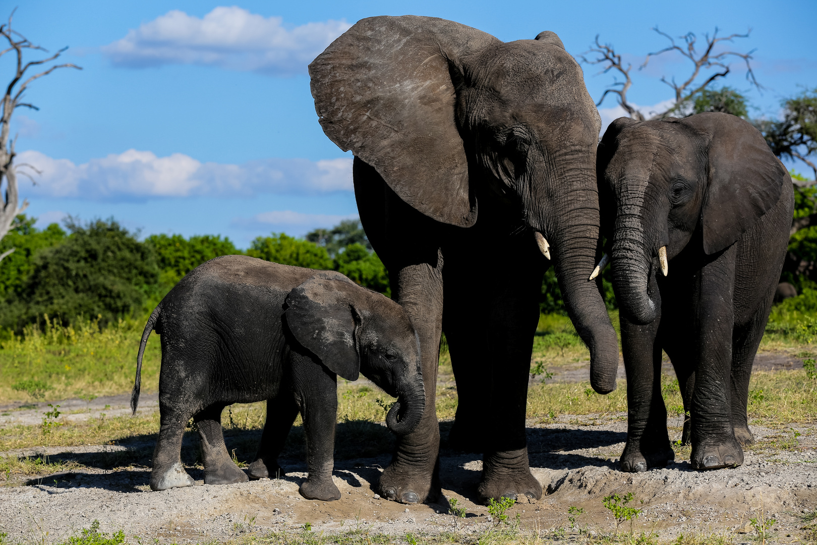
<svg viewBox="0 0 817 545">
<path fill-rule="evenodd" d="M 708 138 L 708 188 L 701 211 L 703 251 L 720 252 L 739 239 L 780 199 L 788 172 L 761 133 L 730 114 L 682 119 Z"/>
</svg>

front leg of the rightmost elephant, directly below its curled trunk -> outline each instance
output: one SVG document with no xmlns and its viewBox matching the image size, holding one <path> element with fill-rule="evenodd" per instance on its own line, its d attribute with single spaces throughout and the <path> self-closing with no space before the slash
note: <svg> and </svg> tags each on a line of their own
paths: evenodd
<svg viewBox="0 0 817 545">
<path fill-rule="evenodd" d="M 660 322 L 660 315 L 645 325 L 620 319 L 627 372 L 627 444 L 618 462 L 621 471 L 647 471 L 675 459 L 661 395 Z"/>
</svg>

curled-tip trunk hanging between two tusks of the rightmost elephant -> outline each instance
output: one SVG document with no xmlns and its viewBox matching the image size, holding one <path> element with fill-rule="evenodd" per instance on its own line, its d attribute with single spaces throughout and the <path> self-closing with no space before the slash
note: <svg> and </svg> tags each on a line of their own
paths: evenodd
<svg viewBox="0 0 817 545">
<path fill-rule="evenodd" d="M 613 288 L 623 315 L 634 324 L 650 324 L 655 302 L 647 293 L 652 255 L 644 230 L 646 182 L 627 181 L 618 194 L 613 235 Z"/>
</svg>

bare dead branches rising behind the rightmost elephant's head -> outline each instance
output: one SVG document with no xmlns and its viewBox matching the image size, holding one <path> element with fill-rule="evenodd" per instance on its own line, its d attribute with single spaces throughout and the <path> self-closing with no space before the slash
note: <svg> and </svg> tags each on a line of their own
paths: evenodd
<svg viewBox="0 0 817 545">
<path fill-rule="evenodd" d="M 681 110 L 684 109 L 686 105 L 690 104 L 690 100 L 692 100 L 694 96 L 698 95 L 704 89 L 707 89 L 718 79 L 725 78 L 726 75 L 730 73 L 730 65 L 728 62 L 734 57 L 743 60 L 743 62 L 746 64 L 746 78 L 748 82 L 752 86 L 762 89 L 761 84 L 758 83 L 757 79 L 755 78 L 750 62 L 752 60 L 752 53 L 755 50 L 752 49 L 752 51 L 748 51 L 748 53 L 732 51 L 731 49 L 721 51 L 720 47 L 718 46 L 718 44 L 723 42 L 734 42 L 735 38 L 748 38 L 751 30 L 749 30 L 746 34 L 730 34 L 729 36 L 719 38 L 717 35 L 718 29 L 716 27 L 711 38 L 708 33 L 703 35 L 704 41 L 706 42 L 706 47 L 703 48 L 703 51 L 698 51 L 698 37 L 692 32 L 678 38 L 679 40 L 683 40 L 684 43 L 681 44 L 676 42 L 676 38 L 672 38 L 672 36 L 669 34 L 659 30 L 658 27 L 654 27 L 653 30 L 667 38 L 670 45 L 664 47 L 660 51 L 648 53 L 644 63 L 638 67 L 639 70 L 644 69 L 652 57 L 659 56 L 670 51 L 676 51 L 677 53 L 681 54 L 681 56 L 684 56 L 686 59 L 690 60 L 693 65 L 693 69 L 690 76 L 682 83 L 677 83 L 675 76 L 672 76 L 669 79 L 667 79 L 666 76 L 661 78 L 663 83 L 666 83 L 669 87 L 672 87 L 675 97 L 670 107 L 661 112 L 653 113 L 650 116 L 650 119 L 661 119 L 672 114 L 681 113 Z M 587 54 L 589 53 L 596 53 L 596 58 L 588 59 Z M 598 101 L 596 104 L 597 106 L 601 105 L 601 103 L 610 93 L 613 93 L 618 95 L 618 105 L 620 105 L 627 112 L 627 114 L 630 115 L 630 117 L 638 119 L 639 121 L 643 121 L 645 119 L 645 116 L 641 114 L 638 109 L 627 102 L 627 91 L 630 89 L 630 87 L 632 87 L 632 78 L 630 77 L 632 65 L 627 63 L 627 66 L 624 66 L 621 55 L 615 52 L 615 48 L 612 44 L 606 43 L 601 45 L 599 42 L 599 37 L 596 35 L 596 43 L 578 58 L 588 65 L 601 65 L 602 70 L 599 74 L 606 74 L 610 70 L 613 70 L 624 78 L 623 81 L 618 81 L 618 79 L 616 79 L 614 83 L 605 89 L 600 101 Z M 710 70 L 712 70 L 712 72 L 710 72 Z M 700 80 L 702 77 L 703 81 Z"/>
</svg>

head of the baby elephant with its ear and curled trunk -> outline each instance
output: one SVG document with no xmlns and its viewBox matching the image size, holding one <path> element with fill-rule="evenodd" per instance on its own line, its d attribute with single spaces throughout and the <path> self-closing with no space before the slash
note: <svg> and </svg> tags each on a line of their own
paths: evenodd
<svg viewBox="0 0 817 545">
<path fill-rule="evenodd" d="M 386 424 L 411 433 L 426 407 L 420 343 L 403 307 L 348 279 L 319 275 L 287 296 L 287 326 L 330 371 L 355 381 L 363 373 L 397 402 Z"/>
</svg>

